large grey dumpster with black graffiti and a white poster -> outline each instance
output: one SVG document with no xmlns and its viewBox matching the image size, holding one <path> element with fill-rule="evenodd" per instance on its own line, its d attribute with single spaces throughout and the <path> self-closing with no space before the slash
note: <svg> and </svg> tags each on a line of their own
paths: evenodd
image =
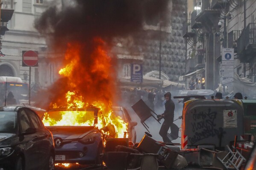
<svg viewBox="0 0 256 170">
<path fill-rule="evenodd" d="M 181 149 L 212 144 L 224 148 L 244 134 L 244 111 L 241 101 L 192 99 L 182 111 Z"/>
</svg>

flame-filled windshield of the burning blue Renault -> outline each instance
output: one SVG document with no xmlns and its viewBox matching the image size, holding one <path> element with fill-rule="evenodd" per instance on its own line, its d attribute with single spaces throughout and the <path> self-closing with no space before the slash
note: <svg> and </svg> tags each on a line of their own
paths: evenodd
<svg viewBox="0 0 256 170">
<path fill-rule="evenodd" d="M 49 111 L 43 123 L 44 126 L 93 126 L 94 111 Z"/>
</svg>

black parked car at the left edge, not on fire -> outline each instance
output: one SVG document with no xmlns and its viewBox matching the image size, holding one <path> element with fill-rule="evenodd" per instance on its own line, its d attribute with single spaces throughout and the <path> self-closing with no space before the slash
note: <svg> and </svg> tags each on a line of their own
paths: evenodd
<svg viewBox="0 0 256 170">
<path fill-rule="evenodd" d="M 0 169 L 53 170 L 53 135 L 24 106 L 0 107 Z"/>
</svg>

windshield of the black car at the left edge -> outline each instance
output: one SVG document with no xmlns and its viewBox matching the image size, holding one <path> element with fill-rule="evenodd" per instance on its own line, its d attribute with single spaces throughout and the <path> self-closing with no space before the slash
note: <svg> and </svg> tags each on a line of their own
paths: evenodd
<svg viewBox="0 0 256 170">
<path fill-rule="evenodd" d="M 17 112 L 0 112 L 0 133 L 15 133 Z"/>
</svg>

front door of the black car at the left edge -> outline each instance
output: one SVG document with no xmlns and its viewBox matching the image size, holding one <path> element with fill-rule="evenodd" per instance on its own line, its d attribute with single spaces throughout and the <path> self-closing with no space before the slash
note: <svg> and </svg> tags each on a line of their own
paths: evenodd
<svg viewBox="0 0 256 170">
<path fill-rule="evenodd" d="M 36 146 L 36 133 L 28 133 L 29 130 L 33 129 L 33 125 L 26 114 L 25 110 L 19 111 L 20 115 L 20 141 L 24 150 L 26 170 L 35 170 L 37 168 L 38 160 L 40 155 L 38 154 Z"/>
</svg>

